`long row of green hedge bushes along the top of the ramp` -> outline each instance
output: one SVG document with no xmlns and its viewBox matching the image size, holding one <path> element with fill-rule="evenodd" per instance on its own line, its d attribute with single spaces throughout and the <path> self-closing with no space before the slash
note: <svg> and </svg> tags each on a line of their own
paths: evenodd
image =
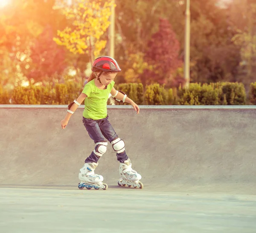
<svg viewBox="0 0 256 233">
<path fill-rule="evenodd" d="M 144 88 L 141 83 L 122 83 L 115 88 L 125 92 L 139 105 L 256 105 L 256 83 L 251 83 L 248 99 L 242 83 L 190 83 L 188 89 L 166 89 L 160 84 L 151 84 Z M 82 89 L 83 86 L 74 82 L 47 86 L 19 86 L 12 92 L 6 92 L 0 87 L 0 104 L 11 102 L 66 105 L 76 99 Z"/>
</svg>

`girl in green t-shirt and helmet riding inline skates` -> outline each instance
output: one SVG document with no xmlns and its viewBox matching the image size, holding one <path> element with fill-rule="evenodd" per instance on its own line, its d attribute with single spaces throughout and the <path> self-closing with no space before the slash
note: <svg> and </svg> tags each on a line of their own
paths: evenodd
<svg viewBox="0 0 256 233">
<path fill-rule="evenodd" d="M 127 95 L 116 91 L 113 87 L 113 81 L 117 73 L 121 69 L 111 57 L 102 56 L 96 58 L 92 65 L 92 74 L 90 75 L 87 84 L 81 95 L 68 106 L 67 115 L 61 121 L 61 128 L 65 129 L 71 115 L 76 111 L 78 106 L 84 101 L 83 124 L 89 136 L 93 139 L 95 149 L 90 156 L 86 158 L 84 166 L 80 169 L 79 189 L 86 187 L 91 189 L 103 188 L 107 189 L 108 185 L 102 183 L 102 175 L 94 174 L 94 170 L 98 166 L 99 158 L 106 152 L 108 142 L 116 152 L 117 160 L 120 162 L 119 173 L 121 178 L 118 181 L 119 186 L 128 184 L 133 187 L 143 188 L 143 184 L 139 181 L 141 175 L 131 168 L 131 161 L 125 152 L 125 142 L 118 137 L 112 125 L 108 121 L 107 101 L 111 93 L 114 99 L 120 102 L 127 102 L 134 107 L 137 114 L 140 108 Z"/>
</svg>

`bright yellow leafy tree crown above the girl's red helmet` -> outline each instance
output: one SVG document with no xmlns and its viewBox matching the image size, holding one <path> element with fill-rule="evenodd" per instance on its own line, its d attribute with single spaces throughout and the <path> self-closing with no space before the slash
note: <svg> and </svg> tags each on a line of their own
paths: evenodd
<svg viewBox="0 0 256 233">
<path fill-rule="evenodd" d="M 74 54 L 89 54 L 92 62 L 106 46 L 107 41 L 101 40 L 101 36 L 110 25 L 113 4 L 113 0 L 78 0 L 63 8 L 72 28 L 67 26 L 63 31 L 58 30 L 58 37 L 53 40 Z"/>
</svg>

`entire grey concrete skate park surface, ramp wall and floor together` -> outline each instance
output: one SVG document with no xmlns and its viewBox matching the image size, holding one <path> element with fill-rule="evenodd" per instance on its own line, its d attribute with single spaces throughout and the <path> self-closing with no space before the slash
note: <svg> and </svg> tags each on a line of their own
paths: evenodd
<svg viewBox="0 0 256 233">
<path fill-rule="evenodd" d="M 94 144 L 66 106 L 0 106 L 0 232 L 256 232 L 256 109 L 110 108 L 143 190 L 117 186 L 116 155 L 79 190 Z"/>
</svg>

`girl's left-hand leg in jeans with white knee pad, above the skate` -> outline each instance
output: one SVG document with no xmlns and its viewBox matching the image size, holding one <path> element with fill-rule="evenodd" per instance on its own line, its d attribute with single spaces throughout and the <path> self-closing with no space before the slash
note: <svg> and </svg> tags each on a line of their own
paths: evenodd
<svg viewBox="0 0 256 233">
<path fill-rule="evenodd" d="M 83 118 L 83 123 L 90 138 L 93 139 L 94 143 L 96 144 L 94 150 L 91 152 L 90 156 L 85 159 L 84 162 L 98 163 L 99 158 L 106 152 L 108 143 L 99 128 L 99 121 Z"/>
</svg>

